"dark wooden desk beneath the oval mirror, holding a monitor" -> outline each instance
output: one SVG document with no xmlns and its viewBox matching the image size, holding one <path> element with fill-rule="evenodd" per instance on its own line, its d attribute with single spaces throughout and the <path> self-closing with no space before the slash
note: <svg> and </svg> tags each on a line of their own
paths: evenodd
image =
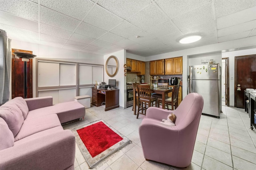
<svg viewBox="0 0 256 170">
<path fill-rule="evenodd" d="M 92 105 L 98 107 L 105 102 L 105 111 L 119 107 L 119 89 L 102 90 L 92 88 Z"/>
</svg>

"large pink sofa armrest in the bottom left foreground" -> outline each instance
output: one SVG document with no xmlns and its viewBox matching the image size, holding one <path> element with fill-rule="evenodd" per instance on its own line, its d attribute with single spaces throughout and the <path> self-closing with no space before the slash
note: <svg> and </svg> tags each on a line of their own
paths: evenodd
<svg viewBox="0 0 256 170">
<path fill-rule="evenodd" d="M 0 170 L 66 169 L 74 165 L 75 137 L 70 130 L 0 150 Z"/>
</svg>

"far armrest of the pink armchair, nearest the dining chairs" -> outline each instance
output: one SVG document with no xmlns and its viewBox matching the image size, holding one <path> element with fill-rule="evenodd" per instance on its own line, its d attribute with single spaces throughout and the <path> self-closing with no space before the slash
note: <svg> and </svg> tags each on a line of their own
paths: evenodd
<svg viewBox="0 0 256 170">
<path fill-rule="evenodd" d="M 165 110 L 158 107 L 149 107 L 147 109 L 146 117 L 162 121 L 162 119 L 166 119 L 170 113 L 172 113 L 172 110 Z"/>
</svg>

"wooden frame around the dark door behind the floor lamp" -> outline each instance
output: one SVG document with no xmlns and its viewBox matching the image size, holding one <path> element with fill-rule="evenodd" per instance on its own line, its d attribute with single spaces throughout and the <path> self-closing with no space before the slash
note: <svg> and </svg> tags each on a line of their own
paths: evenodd
<svg viewBox="0 0 256 170">
<path fill-rule="evenodd" d="M 33 51 L 28 50 L 21 50 L 21 49 L 12 49 L 12 99 L 15 98 L 15 55 L 13 53 L 21 52 L 21 53 L 28 53 L 33 54 Z M 30 84 L 30 98 L 33 96 L 33 59 L 29 59 L 30 61 L 30 79 L 28 80 Z M 23 66 L 24 67 L 24 66 Z M 27 69 L 28 70 L 28 69 Z M 27 95 L 28 96 L 28 95 Z"/>
</svg>

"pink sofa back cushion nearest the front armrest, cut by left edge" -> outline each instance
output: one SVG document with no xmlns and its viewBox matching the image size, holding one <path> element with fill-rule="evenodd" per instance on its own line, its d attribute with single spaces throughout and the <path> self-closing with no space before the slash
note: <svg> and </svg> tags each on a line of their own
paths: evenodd
<svg viewBox="0 0 256 170">
<path fill-rule="evenodd" d="M 14 136 L 4 119 L 0 118 L 0 150 L 12 147 Z"/>
</svg>

